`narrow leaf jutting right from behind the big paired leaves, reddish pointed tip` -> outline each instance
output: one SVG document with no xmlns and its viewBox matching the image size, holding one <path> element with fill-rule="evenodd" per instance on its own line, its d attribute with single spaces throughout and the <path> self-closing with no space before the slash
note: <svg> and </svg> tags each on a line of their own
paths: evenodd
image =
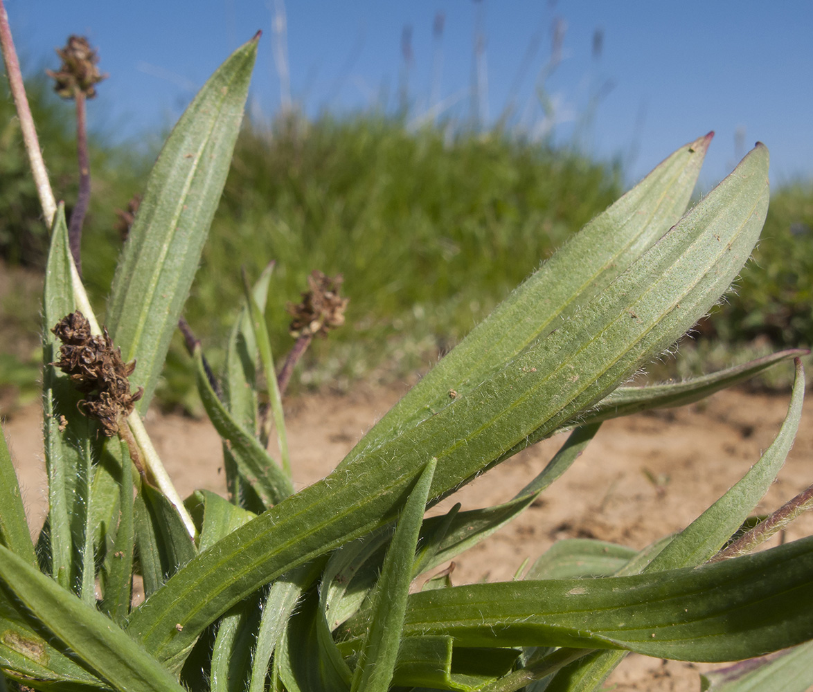
<svg viewBox="0 0 813 692">
<path fill-rule="evenodd" d="M 650 409 L 668 409 L 693 404 L 735 384 L 745 382 L 755 374 L 773 367 L 789 358 L 804 356 L 806 348 L 789 348 L 769 356 L 756 358 L 720 372 L 689 378 L 684 382 L 655 384 L 646 387 L 619 387 L 602 399 L 594 409 L 579 417 L 580 424 L 606 421 L 610 418 L 629 416 Z"/>
</svg>

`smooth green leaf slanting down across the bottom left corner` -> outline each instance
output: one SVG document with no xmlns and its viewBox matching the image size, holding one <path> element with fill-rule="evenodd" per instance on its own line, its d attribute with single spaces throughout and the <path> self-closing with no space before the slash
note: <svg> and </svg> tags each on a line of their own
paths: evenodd
<svg viewBox="0 0 813 692">
<path fill-rule="evenodd" d="M 2 546 L 0 582 L 84 666 L 116 689 L 183 690 L 163 666 L 113 621 Z"/>
</svg>

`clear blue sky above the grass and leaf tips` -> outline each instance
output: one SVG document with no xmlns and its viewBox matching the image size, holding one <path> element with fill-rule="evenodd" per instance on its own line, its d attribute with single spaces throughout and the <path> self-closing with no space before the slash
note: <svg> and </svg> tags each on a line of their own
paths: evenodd
<svg viewBox="0 0 813 692">
<path fill-rule="evenodd" d="M 394 112 L 406 84 L 411 124 L 431 118 L 433 106 L 446 118 L 485 123 L 512 106 L 511 127 L 619 157 L 630 181 L 709 130 L 716 136 L 704 188 L 757 140 L 771 150 L 774 184 L 813 179 L 809 0 L 6 0 L 24 70 L 55 67 L 53 50 L 69 33 L 90 38 L 110 73 L 91 104 L 91 123 L 133 142 L 174 122 L 258 29 L 251 108 L 263 117 L 278 112 L 286 92 L 272 24 L 280 6 L 290 97 L 309 115 Z M 542 81 L 546 115 L 536 93 L 550 68 L 554 25 L 563 41 Z"/>
</svg>

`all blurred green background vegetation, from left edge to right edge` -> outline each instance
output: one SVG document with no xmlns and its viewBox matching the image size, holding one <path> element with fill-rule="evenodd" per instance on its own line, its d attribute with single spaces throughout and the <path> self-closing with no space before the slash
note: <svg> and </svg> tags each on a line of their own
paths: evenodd
<svg viewBox="0 0 813 692">
<path fill-rule="evenodd" d="M 54 191 L 76 197 L 72 104 L 44 80 L 28 84 Z M 13 104 L 0 85 L 0 399 L 33 396 L 41 270 L 47 234 L 28 174 Z M 91 106 L 92 107 L 92 106 Z M 664 143 L 663 155 L 680 142 Z M 83 236 L 85 283 L 102 314 L 123 223 L 117 210 L 143 188 L 156 152 L 91 136 L 93 197 Z M 293 388 L 350 387 L 359 379 L 425 370 L 572 232 L 624 192 L 615 162 L 572 147 L 452 123 L 410 128 L 363 112 L 308 121 L 289 114 L 246 122 L 185 317 L 215 367 L 250 278 L 276 266 L 268 301 L 278 363 L 293 344 L 287 302 L 321 270 L 344 277 L 346 327 L 317 340 Z M 736 292 L 698 326 L 660 377 L 729 365 L 813 343 L 813 182 L 772 191 L 759 249 Z M 771 384 L 763 380 L 763 384 Z M 159 402 L 198 410 L 180 337 Z"/>
</svg>

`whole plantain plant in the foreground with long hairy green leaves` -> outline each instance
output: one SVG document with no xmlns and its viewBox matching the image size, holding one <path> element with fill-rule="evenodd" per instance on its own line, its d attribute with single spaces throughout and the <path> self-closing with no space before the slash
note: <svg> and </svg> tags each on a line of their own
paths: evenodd
<svg viewBox="0 0 813 692">
<path fill-rule="evenodd" d="M 0 15 L 13 88 L 2 4 Z M 768 203 L 761 144 L 688 213 L 711 133 L 677 149 L 542 264 L 333 473 L 298 492 L 263 321 L 266 272 L 246 288 L 219 380 L 194 352 L 230 497 L 180 500 L 141 414 L 224 185 L 257 39 L 215 72 L 167 139 L 104 329 L 29 140 L 51 221 L 49 512 L 33 542 L 0 445 L 0 687 L 5 676 L 7 689 L 33 690 L 596 690 L 629 651 L 722 662 L 785 649 L 710 673 L 704 689 L 813 684 L 813 538 L 754 552 L 809 498 L 756 525 L 749 518 L 798 427 L 802 352 L 683 383 L 622 384 L 706 314 L 750 256 Z M 679 534 L 643 551 L 564 540 L 514 582 L 451 586 L 441 570 L 412 589 L 528 508 L 606 418 L 689 403 L 793 357 L 776 440 Z M 261 394 L 279 461 L 267 452 Z M 478 474 L 568 430 L 510 502 L 424 519 Z"/>
</svg>

